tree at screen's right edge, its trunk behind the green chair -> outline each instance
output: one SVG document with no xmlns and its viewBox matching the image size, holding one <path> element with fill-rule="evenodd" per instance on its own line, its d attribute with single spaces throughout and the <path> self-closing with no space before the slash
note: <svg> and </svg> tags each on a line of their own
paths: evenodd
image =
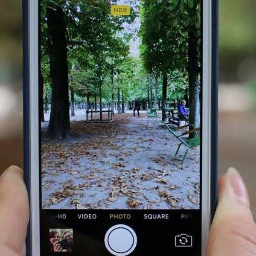
<svg viewBox="0 0 256 256">
<path fill-rule="evenodd" d="M 169 15 L 177 24 L 178 38 L 186 45 L 189 83 L 189 123 L 200 126 L 200 50 L 201 5 L 200 0 L 173 0 Z M 189 134 L 194 137 L 194 134 Z"/>
</svg>

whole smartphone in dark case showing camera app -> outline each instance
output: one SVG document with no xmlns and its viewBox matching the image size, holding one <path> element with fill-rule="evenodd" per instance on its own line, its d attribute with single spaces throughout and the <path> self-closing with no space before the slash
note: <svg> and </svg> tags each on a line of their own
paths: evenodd
<svg viewBox="0 0 256 256">
<path fill-rule="evenodd" d="M 217 0 L 23 0 L 23 12 L 28 255 L 204 256 Z"/>
</svg>

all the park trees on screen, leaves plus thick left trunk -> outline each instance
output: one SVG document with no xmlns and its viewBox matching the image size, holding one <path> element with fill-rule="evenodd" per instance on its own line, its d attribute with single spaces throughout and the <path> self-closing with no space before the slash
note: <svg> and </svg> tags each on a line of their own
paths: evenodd
<svg viewBox="0 0 256 256">
<path fill-rule="evenodd" d="M 161 108 L 164 120 L 166 104 L 186 95 L 198 125 L 200 1 L 128 0 L 131 15 L 111 15 L 118 2 L 41 1 L 41 104 L 51 104 L 50 137 L 69 135 L 75 104 L 120 108 L 121 96 L 127 108 L 135 98 Z"/>
</svg>

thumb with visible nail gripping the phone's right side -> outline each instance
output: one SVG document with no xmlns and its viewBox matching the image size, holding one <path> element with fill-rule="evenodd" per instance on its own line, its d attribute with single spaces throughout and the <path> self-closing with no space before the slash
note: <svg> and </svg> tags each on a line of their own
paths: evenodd
<svg viewBox="0 0 256 256">
<path fill-rule="evenodd" d="M 218 206 L 210 230 L 207 256 L 256 256 L 256 224 L 247 189 L 230 168 L 218 183 Z"/>
</svg>

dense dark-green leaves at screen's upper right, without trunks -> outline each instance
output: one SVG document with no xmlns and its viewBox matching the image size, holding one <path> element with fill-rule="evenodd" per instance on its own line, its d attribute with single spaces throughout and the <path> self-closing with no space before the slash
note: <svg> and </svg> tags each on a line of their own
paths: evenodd
<svg viewBox="0 0 256 256">
<path fill-rule="evenodd" d="M 191 15 L 195 6 L 196 15 Z M 142 9 L 140 52 L 145 69 L 171 74 L 178 70 L 182 76 L 187 66 L 188 33 L 192 31 L 200 40 L 200 1 L 143 0 Z"/>
</svg>

